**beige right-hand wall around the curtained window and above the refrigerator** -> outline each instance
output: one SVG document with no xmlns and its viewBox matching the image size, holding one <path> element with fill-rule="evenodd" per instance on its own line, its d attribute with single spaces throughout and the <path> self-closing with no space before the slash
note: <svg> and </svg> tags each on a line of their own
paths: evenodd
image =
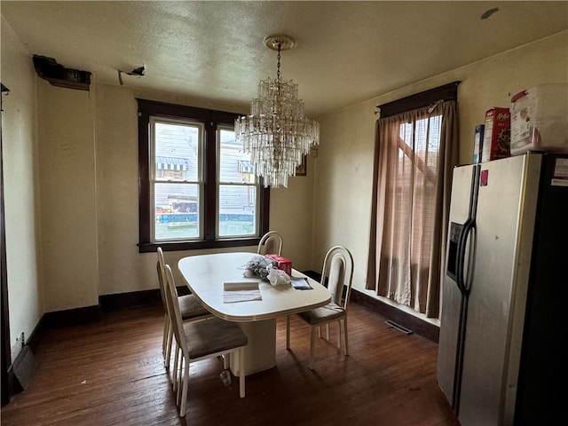
<svg viewBox="0 0 568 426">
<path fill-rule="evenodd" d="M 353 288 L 365 288 L 375 106 L 456 80 L 461 81 L 460 162 L 465 164 L 471 162 L 475 126 L 484 122 L 487 109 L 509 106 L 512 95 L 536 84 L 568 83 L 568 32 L 320 117 L 312 268 L 323 262 L 331 245 L 345 245 L 356 265 Z"/>
</svg>

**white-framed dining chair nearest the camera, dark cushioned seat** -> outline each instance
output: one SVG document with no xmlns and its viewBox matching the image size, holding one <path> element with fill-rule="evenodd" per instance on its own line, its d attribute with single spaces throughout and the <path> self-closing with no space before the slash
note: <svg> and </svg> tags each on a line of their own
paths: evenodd
<svg viewBox="0 0 568 426">
<path fill-rule="evenodd" d="M 187 403 L 187 390 L 189 386 L 189 369 L 193 362 L 201 359 L 228 357 L 234 353 L 239 354 L 239 395 L 245 397 L 245 361 L 244 347 L 248 343 L 241 327 L 236 322 L 225 321 L 212 317 L 202 321 L 183 322 L 179 310 L 176 283 L 169 264 L 165 266 L 166 275 L 166 301 L 170 320 L 174 332 L 176 351 L 179 351 L 175 359 L 174 372 L 178 374 L 174 382 L 177 386 L 176 402 L 179 407 L 179 415 L 185 417 Z"/>
</svg>

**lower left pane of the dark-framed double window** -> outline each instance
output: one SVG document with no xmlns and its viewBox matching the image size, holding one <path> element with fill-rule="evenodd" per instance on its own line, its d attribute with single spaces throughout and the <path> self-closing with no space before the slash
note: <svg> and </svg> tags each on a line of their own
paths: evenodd
<svg viewBox="0 0 568 426">
<path fill-rule="evenodd" d="M 155 241 L 201 238 L 199 185 L 154 185 Z"/>
</svg>

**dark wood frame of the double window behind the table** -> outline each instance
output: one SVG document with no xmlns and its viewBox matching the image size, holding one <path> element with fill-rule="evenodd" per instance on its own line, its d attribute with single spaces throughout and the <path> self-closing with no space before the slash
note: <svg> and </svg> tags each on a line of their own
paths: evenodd
<svg viewBox="0 0 568 426">
<path fill-rule="evenodd" d="M 217 217 L 217 127 L 233 126 L 238 114 L 182 106 L 147 99 L 138 100 L 138 215 L 140 253 L 154 252 L 162 247 L 165 251 L 193 250 L 202 248 L 227 248 L 254 246 L 260 237 L 269 231 L 270 188 L 259 186 L 260 201 L 258 220 L 259 235 L 248 238 L 216 239 Z M 205 200 L 204 200 L 204 240 L 202 241 L 160 241 L 151 239 L 151 200 L 150 200 L 150 117 L 170 119 L 192 119 L 202 122 L 205 129 Z"/>
</svg>

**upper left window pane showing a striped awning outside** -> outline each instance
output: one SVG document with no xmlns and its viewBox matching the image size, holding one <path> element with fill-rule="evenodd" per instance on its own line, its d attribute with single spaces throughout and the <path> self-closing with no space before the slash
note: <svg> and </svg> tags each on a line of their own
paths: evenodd
<svg viewBox="0 0 568 426">
<path fill-rule="evenodd" d="M 156 180 L 198 180 L 199 130 L 196 125 L 154 122 Z"/>
</svg>

